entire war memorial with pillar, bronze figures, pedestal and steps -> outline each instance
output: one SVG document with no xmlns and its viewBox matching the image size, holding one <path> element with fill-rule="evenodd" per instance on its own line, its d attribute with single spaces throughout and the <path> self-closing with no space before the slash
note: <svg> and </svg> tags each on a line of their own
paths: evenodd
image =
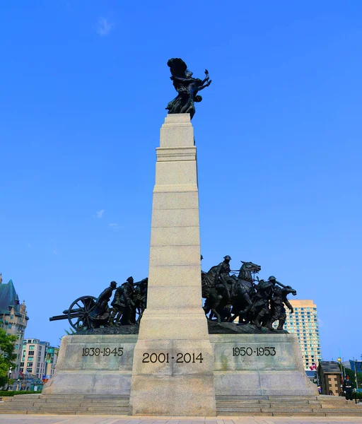
<svg viewBox="0 0 362 424">
<path fill-rule="evenodd" d="M 156 148 L 148 277 L 129 277 L 118 287 L 112 281 L 98 298 L 82 296 L 51 318 L 68 319 L 76 334 L 62 338 L 54 377 L 42 395 L 23 396 L 23 410 L 325 416 L 330 406 L 348 412 L 344 399 L 317 396 L 298 338 L 284 330 L 285 308 L 293 310 L 287 296 L 296 290 L 274 276 L 259 280 L 261 266 L 252 262 L 231 270 L 228 255 L 202 271 L 191 119 L 211 80 L 208 71 L 203 80 L 194 78 L 182 59 L 168 66 L 177 96 L 166 107 Z M 6 403 L 11 411 L 16 399 Z"/>
</svg>

